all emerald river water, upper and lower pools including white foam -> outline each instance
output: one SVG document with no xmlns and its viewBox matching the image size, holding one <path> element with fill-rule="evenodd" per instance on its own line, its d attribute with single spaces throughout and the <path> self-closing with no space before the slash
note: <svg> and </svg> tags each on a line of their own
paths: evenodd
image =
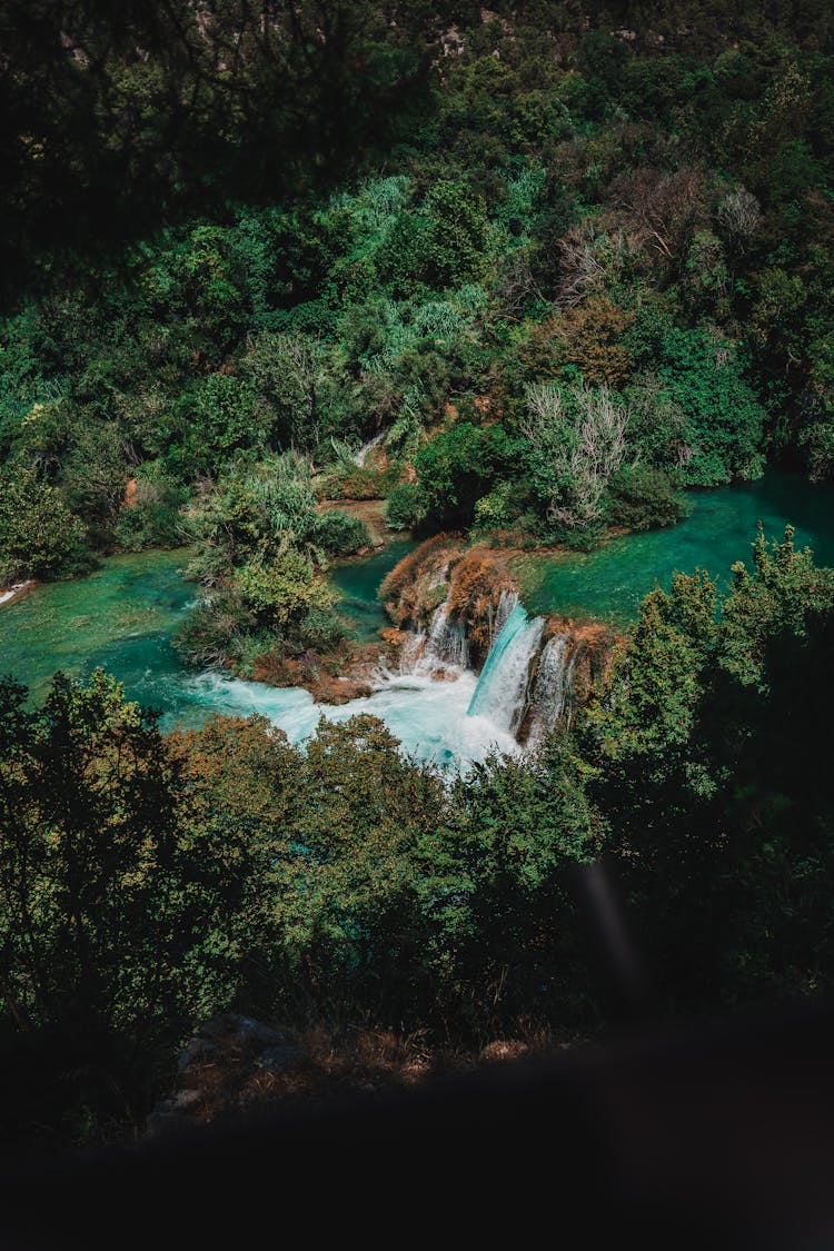
<svg viewBox="0 0 834 1251">
<path fill-rule="evenodd" d="M 734 560 L 749 559 L 759 519 L 770 538 L 781 538 L 790 522 L 798 544 L 813 547 L 820 564 L 834 565 L 830 487 L 769 473 L 756 483 L 696 494 L 693 505 L 691 515 L 673 529 L 613 539 L 588 555 L 521 558 L 525 607 L 628 624 L 646 592 L 658 582 L 668 585 L 675 569 L 701 567 L 726 580 Z M 358 638 L 371 638 L 385 624 L 376 598 L 379 583 L 413 545 L 409 539 L 395 539 L 368 560 L 333 568 L 343 613 Z M 278 691 L 186 669 L 170 639 L 196 597 L 195 585 L 179 573 L 188 555 L 180 550 L 114 557 L 89 578 L 35 587 L 1 605 L 0 673 L 13 673 L 40 699 L 56 669 L 85 677 L 103 666 L 124 682 L 131 699 L 160 709 L 164 728 L 178 722 L 200 724 L 213 711 L 263 712 L 299 739 L 315 729 L 323 711 L 336 719 L 356 711 L 375 712 L 418 754 L 473 758 L 475 748 L 458 731 L 460 726 L 473 729 L 465 713 L 474 674 L 451 684 L 428 678 L 423 684 L 390 683 L 368 699 L 321 709 L 306 691 Z"/>
</svg>

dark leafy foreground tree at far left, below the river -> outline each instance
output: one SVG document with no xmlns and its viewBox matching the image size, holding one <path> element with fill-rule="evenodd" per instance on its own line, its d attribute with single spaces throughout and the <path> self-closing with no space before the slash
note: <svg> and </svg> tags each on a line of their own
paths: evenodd
<svg viewBox="0 0 834 1251">
<path fill-rule="evenodd" d="M 6 1011 L 31 1027 L 174 1037 L 189 926 L 171 771 L 153 719 L 96 671 L 43 709 L 0 683 L 0 950 Z"/>
</svg>

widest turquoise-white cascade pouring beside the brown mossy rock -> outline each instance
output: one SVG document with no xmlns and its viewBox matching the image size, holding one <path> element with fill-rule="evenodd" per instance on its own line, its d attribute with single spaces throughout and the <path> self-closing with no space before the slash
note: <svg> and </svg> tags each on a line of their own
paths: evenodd
<svg viewBox="0 0 834 1251">
<path fill-rule="evenodd" d="M 526 706 L 530 663 L 543 631 L 544 618 L 529 620 L 516 603 L 486 657 L 469 704 L 470 717 L 485 717 L 513 734 L 518 731 Z"/>
</svg>

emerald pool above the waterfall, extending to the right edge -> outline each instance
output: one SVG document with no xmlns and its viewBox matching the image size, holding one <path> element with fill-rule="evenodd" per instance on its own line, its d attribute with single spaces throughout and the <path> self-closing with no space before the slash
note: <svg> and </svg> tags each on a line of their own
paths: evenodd
<svg viewBox="0 0 834 1251">
<path fill-rule="evenodd" d="M 761 520 L 768 538 L 781 539 L 795 525 L 794 543 L 809 545 L 818 564 L 834 565 L 834 489 L 799 475 L 768 472 L 690 495 L 693 510 L 678 525 L 611 539 L 595 552 L 519 560 L 523 600 L 535 613 L 596 618 L 626 626 L 643 598 L 671 574 L 706 569 L 726 585 L 730 565 L 750 559 Z"/>
</svg>

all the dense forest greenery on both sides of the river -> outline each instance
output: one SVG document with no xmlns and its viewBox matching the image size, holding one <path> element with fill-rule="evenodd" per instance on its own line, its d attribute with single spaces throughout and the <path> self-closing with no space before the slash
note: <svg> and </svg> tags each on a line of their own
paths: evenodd
<svg viewBox="0 0 834 1251">
<path fill-rule="evenodd" d="M 765 463 L 834 478 L 823 0 L 10 0 L 0 53 L 0 588 L 188 545 L 180 653 L 280 674 L 344 642 L 343 502 L 588 550 Z M 233 1008 L 586 1040 L 600 859 L 658 1011 L 830 988 L 834 572 L 790 530 L 720 572 L 454 776 L 373 717 L 163 734 L 103 672 L 5 679 L 9 1132 L 141 1132 Z"/>
</svg>

